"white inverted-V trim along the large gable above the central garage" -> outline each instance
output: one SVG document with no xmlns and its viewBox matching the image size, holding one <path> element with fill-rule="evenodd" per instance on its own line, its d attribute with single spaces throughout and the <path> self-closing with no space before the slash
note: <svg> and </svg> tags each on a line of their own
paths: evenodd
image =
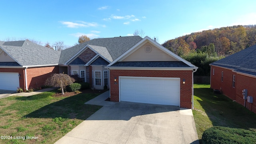
<svg viewBox="0 0 256 144">
<path fill-rule="evenodd" d="M 152 45 L 156 46 L 157 48 L 159 48 L 160 50 L 162 50 L 163 52 L 165 52 L 166 54 L 169 54 L 170 56 L 172 56 L 173 58 L 175 58 L 176 60 L 182 61 L 185 64 L 187 64 L 188 66 L 193 67 L 192 69 L 198 69 L 198 67 L 194 66 L 193 64 L 191 64 L 190 62 L 184 60 L 183 58 L 177 56 L 176 54 L 174 54 L 173 52 L 171 52 L 170 50 L 167 50 L 166 48 L 164 48 L 163 46 L 161 46 L 160 44 L 158 44 L 157 42 L 155 42 L 154 40 L 152 40 L 151 38 L 149 38 L 148 36 L 146 36 L 145 38 L 143 38 L 140 42 L 138 42 L 137 44 L 135 44 L 132 48 L 130 48 L 129 50 L 127 50 L 124 54 L 122 54 L 121 56 L 119 56 L 118 58 L 116 58 L 116 60 L 114 60 L 113 62 L 111 62 L 110 64 L 108 64 L 108 66 L 112 66 L 114 63 L 122 61 L 124 58 L 126 58 L 127 56 L 129 56 L 130 54 L 132 54 L 132 52 L 134 52 L 135 50 L 137 50 L 138 48 L 140 48 L 140 45 L 146 43 L 146 42 L 150 42 Z M 107 66 L 107 67 L 108 67 Z"/>
</svg>

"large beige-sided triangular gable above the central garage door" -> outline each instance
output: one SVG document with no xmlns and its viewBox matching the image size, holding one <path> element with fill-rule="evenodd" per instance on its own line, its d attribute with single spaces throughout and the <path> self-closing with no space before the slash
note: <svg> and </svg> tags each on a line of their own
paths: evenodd
<svg viewBox="0 0 256 144">
<path fill-rule="evenodd" d="M 117 62 L 125 62 L 125 61 L 128 61 L 128 60 L 131 60 L 131 58 L 129 58 L 129 56 L 138 55 L 140 51 L 143 51 L 143 48 L 146 48 L 146 47 L 143 47 L 143 46 L 147 46 L 147 45 L 150 45 L 150 46 L 153 46 L 154 48 L 157 48 L 158 51 L 156 51 L 156 52 L 160 52 L 160 53 L 158 54 L 158 57 L 156 57 L 153 60 L 147 59 L 147 60 L 141 60 L 141 61 L 149 61 L 149 60 L 150 61 L 166 61 L 165 58 L 168 59 L 168 57 L 159 58 L 159 56 L 161 56 L 161 54 L 167 54 L 170 58 L 168 61 L 180 61 L 180 62 L 183 62 L 184 64 L 188 65 L 188 67 L 190 67 L 190 68 L 197 69 L 196 66 L 194 66 L 190 62 L 180 58 L 176 54 L 172 53 L 170 50 L 167 50 L 166 48 L 164 48 L 163 46 L 161 46 L 160 44 L 158 44 L 157 42 L 155 42 L 154 40 L 152 40 L 148 36 L 143 38 L 140 42 L 138 42 L 136 45 L 134 45 L 132 48 L 130 48 L 128 51 L 126 51 L 124 54 L 122 54 L 120 57 L 116 58 L 116 60 L 111 62 L 107 67 L 114 66 L 114 64 L 117 63 Z M 137 51 L 137 50 L 139 50 L 139 51 Z M 138 52 L 138 54 L 136 54 L 136 51 Z"/>
</svg>

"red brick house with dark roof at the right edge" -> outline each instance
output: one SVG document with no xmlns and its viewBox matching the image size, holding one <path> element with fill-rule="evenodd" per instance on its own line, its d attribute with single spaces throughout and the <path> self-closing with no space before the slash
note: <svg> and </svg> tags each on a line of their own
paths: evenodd
<svg viewBox="0 0 256 144">
<path fill-rule="evenodd" d="M 211 88 L 256 113 L 256 45 L 210 64 Z M 242 90 L 252 96 L 244 100 Z"/>
</svg>

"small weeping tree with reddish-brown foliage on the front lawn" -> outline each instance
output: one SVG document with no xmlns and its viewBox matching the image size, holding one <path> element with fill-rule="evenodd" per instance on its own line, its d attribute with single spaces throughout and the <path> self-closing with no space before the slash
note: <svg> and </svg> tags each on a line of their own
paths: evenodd
<svg viewBox="0 0 256 144">
<path fill-rule="evenodd" d="M 52 74 L 49 78 L 46 79 L 45 85 L 60 87 L 62 94 L 64 94 L 63 87 L 72 84 L 74 81 L 74 78 L 71 78 L 67 74 Z"/>
</svg>

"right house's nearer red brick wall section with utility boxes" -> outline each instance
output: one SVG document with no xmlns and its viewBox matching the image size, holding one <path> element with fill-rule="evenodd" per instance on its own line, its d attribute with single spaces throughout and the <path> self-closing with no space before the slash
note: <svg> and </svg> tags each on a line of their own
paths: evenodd
<svg viewBox="0 0 256 144">
<path fill-rule="evenodd" d="M 242 90 L 247 89 L 248 96 L 252 96 L 253 103 L 248 103 L 246 100 L 246 108 L 256 113 L 256 78 L 236 74 L 236 102 L 244 105 Z"/>
</svg>

